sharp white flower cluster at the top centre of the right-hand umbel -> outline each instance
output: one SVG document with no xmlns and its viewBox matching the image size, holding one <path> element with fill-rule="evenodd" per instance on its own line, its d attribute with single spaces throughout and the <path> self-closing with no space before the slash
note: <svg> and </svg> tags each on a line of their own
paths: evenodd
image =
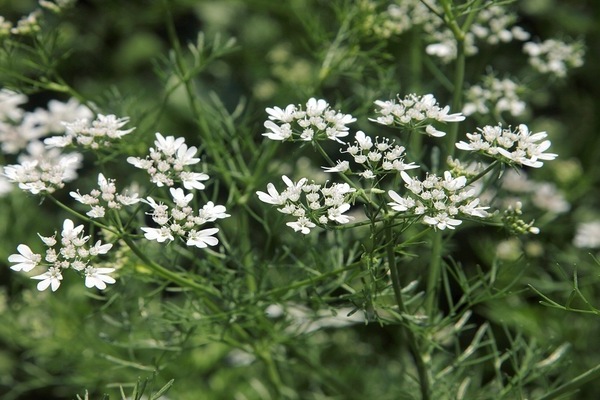
<svg viewBox="0 0 600 400">
<path fill-rule="evenodd" d="M 398 97 L 397 102 L 377 100 L 375 105 L 379 107 L 376 113 L 380 116 L 371 121 L 382 125 L 399 125 L 435 137 L 445 136 L 446 133 L 434 128 L 434 122 L 460 122 L 465 119 L 461 113 L 448 114 L 450 106 L 441 108 L 432 94 L 409 94 L 404 99 Z"/>
</svg>

